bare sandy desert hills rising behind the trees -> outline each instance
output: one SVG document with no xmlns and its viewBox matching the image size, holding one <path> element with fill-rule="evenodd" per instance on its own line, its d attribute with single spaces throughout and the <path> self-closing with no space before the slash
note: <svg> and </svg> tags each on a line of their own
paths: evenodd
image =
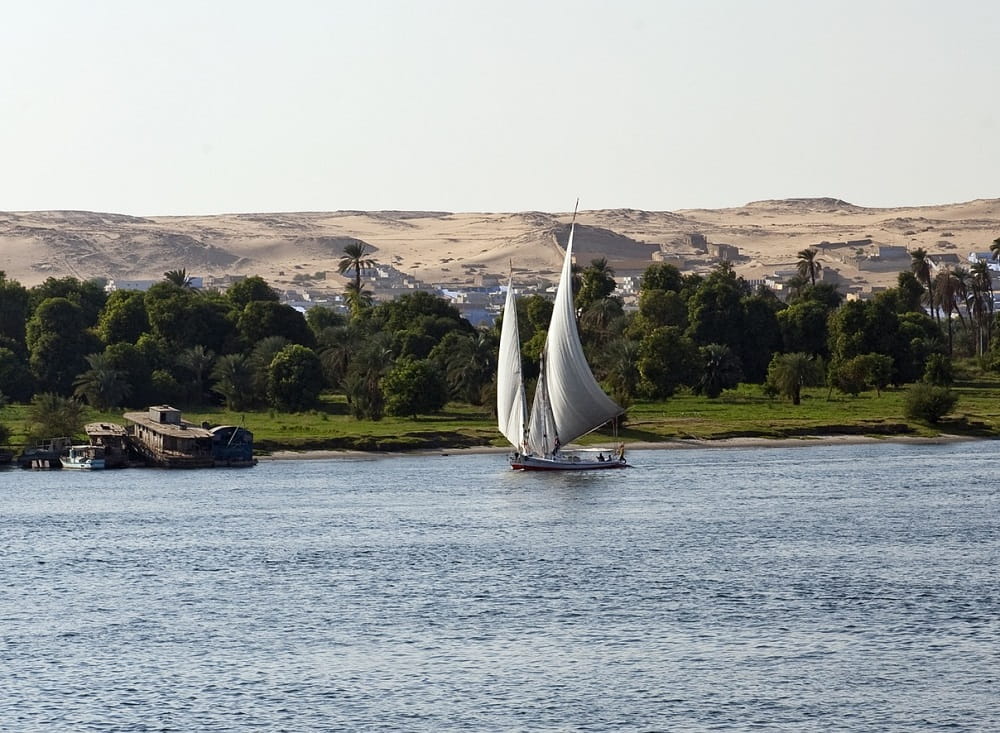
<svg viewBox="0 0 1000 733">
<path fill-rule="evenodd" d="M 472 284 L 483 275 L 554 280 L 569 213 L 337 211 L 131 217 L 82 211 L 0 212 L 0 270 L 25 285 L 49 276 L 139 280 L 184 268 L 210 280 L 261 275 L 294 288 L 315 273 L 339 290 L 345 244 L 369 245 L 378 263 L 428 284 Z M 823 272 L 845 289 L 891 285 L 906 269 L 905 249 L 942 261 L 988 251 L 1000 236 L 1000 199 L 876 209 L 839 199 L 757 201 L 731 209 L 582 211 L 576 253 L 606 257 L 619 274 L 651 262 L 703 270 L 719 256 L 764 279 L 794 267 L 819 246 Z M 731 245 L 738 249 L 720 248 Z M 903 248 L 902 250 L 900 248 Z M 481 279 L 481 278 L 480 278 Z M 315 281 L 313 281 L 314 284 Z"/>
</svg>

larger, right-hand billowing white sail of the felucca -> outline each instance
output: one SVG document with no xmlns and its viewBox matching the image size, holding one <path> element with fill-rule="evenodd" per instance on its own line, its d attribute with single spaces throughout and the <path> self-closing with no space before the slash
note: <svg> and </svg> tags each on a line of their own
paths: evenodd
<svg viewBox="0 0 1000 733">
<path fill-rule="evenodd" d="M 594 379 L 580 343 L 573 308 L 575 228 L 574 222 L 569 229 L 566 257 L 545 341 L 546 392 L 562 444 L 576 440 L 623 412 Z M 533 432 L 533 424 L 531 428 Z"/>
</svg>

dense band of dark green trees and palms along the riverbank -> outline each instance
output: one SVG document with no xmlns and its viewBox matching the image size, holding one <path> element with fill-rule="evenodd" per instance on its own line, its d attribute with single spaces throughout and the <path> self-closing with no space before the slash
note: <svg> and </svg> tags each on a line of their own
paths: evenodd
<svg viewBox="0 0 1000 733">
<path fill-rule="evenodd" d="M 259 276 L 203 291 L 174 270 L 145 292 L 107 294 L 72 277 L 26 288 L 0 273 L 0 392 L 101 409 L 296 411 L 334 391 L 355 417 L 372 420 L 436 412 L 450 400 L 492 406 L 500 322 L 474 328 L 447 300 L 421 291 L 374 303 L 361 281 L 374 265 L 364 244 L 345 247 L 348 313 L 317 306 L 305 315 Z M 1000 362 L 986 263 L 932 277 L 926 252 L 914 250 L 895 287 L 847 302 L 817 279 L 819 269 L 816 250 L 800 252 L 782 300 L 727 262 L 706 275 L 656 263 L 643 275 L 638 308 L 627 311 L 607 260 L 593 260 L 575 271 L 584 348 L 624 406 L 679 389 L 714 398 L 741 382 L 798 402 L 804 385 L 857 394 L 947 381 L 952 356 Z M 541 295 L 518 301 L 529 380 L 551 311 Z"/>
</svg>

